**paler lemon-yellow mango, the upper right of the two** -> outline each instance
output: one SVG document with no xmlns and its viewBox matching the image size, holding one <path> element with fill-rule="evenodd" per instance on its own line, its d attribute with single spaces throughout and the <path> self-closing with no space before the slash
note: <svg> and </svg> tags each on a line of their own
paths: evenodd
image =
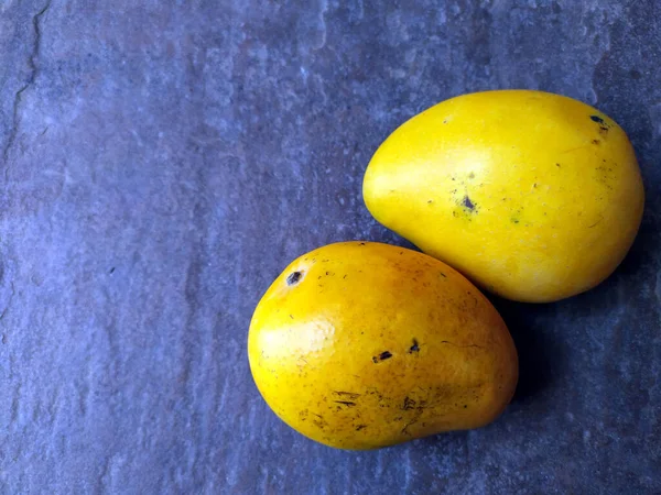
<svg viewBox="0 0 661 495">
<path fill-rule="evenodd" d="M 478 286 L 529 302 L 608 277 L 644 202 L 617 123 L 529 90 L 465 95 L 412 118 L 378 148 L 362 191 L 383 226 Z"/>
</svg>

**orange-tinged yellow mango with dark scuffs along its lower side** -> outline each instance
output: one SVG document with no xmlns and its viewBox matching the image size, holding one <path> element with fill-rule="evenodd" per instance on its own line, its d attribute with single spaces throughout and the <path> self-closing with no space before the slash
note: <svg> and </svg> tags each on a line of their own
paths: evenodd
<svg viewBox="0 0 661 495">
<path fill-rule="evenodd" d="M 288 266 L 254 311 L 248 358 L 284 422 L 343 449 L 487 425 L 518 378 L 509 331 L 470 282 L 423 253 L 369 242 Z"/>
</svg>

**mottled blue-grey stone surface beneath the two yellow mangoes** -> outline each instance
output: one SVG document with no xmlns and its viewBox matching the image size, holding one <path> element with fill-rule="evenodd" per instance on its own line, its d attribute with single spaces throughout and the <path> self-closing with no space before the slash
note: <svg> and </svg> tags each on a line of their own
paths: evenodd
<svg viewBox="0 0 661 495">
<path fill-rule="evenodd" d="M 661 493 L 661 4 L 0 0 L 0 493 Z M 248 369 L 299 254 L 404 244 L 371 153 L 451 96 L 539 88 L 630 133 L 648 200 L 597 289 L 496 301 L 494 425 L 373 452 L 290 430 Z"/>
</svg>

